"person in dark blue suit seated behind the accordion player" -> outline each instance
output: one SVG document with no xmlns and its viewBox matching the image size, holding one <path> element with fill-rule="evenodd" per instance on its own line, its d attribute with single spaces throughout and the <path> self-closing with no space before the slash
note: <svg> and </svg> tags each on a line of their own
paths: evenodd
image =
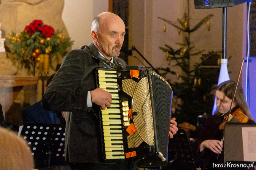
<svg viewBox="0 0 256 170">
<path fill-rule="evenodd" d="M 45 85 L 45 89 L 53 80 L 55 73 L 51 75 Z M 45 90 L 44 89 L 44 90 Z M 42 102 L 39 101 L 22 111 L 23 124 L 30 123 L 47 123 L 47 124 L 66 124 L 67 112 L 48 111 L 42 107 Z"/>
</svg>

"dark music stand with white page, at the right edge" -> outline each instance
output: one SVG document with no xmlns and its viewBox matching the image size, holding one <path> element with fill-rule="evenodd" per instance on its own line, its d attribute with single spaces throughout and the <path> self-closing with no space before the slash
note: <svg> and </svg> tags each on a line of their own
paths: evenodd
<svg viewBox="0 0 256 170">
<path fill-rule="evenodd" d="M 225 162 L 234 162 L 234 163 L 241 163 L 241 162 L 256 162 L 256 157 L 252 156 L 248 160 L 244 158 L 244 152 L 246 148 L 243 147 L 243 143 L 246 139 L 243 138 L 242 135 L 242 128 L 243 127 L 252 127 L 252 136 L 251 140 L 255 138 L 255 131 L 256 131 L 256 124 L 247 124 L 247 123 L 226 123 L 224 126 L 224 163 Z M 248 138 L 248 135 L 245 134 Z M 255 140 L 253 140 L 252 144 Z M 248 141 L 249 142 L 249 141 Z M 247 148 L 248 149 L 248 148 Z M 255 147 L 252 149 L 255 150 Z M 248 157 L 248 156 L 247 156 Z"/>
</svg>

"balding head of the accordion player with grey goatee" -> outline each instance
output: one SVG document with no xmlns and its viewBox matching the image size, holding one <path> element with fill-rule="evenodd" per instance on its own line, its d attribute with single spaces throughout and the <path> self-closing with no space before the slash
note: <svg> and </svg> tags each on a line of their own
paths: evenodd
<svg viewBox="0 0 256 170">
<path fill-rule="evenodd" d="M 92 23 L 91 37 L 98 51 L 108 60 L 120 54 L 125 24 L 116 14 L 103 12 Z"/>
</svg>

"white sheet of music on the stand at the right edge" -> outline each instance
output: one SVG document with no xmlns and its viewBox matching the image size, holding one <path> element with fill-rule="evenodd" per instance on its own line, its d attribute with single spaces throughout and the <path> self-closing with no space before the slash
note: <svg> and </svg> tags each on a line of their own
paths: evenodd
<svg viewBox="0 0 256 170">
<path fill-rule="evenodd" d="M 256 128 L 242 127 L 244 161 L 256 161 Z"/>
</svg>

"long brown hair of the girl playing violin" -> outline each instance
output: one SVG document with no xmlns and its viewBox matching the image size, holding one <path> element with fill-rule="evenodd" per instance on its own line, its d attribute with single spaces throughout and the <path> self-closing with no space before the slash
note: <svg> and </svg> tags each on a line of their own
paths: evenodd
<svg viewBox="0 0 256 170">
<path fill-rule="evenodd" d="M 228 80 L 228 81 L 221 83 L 217 87 L 217 90 L 223 92 L 228 98 L 233 99 L 235 88 L 236 88 L 236 82 Z M 246 103 L 243 88 L 239 83 L 237 85 L 234 102 L 242 111 L 244 111 L 244 114 L 246 114 L 246 116 L 248 116 L 249 119 L 254 120 L 252 118 L 252 115 L 251 115 L 248 105 Z"/>
</svg>

